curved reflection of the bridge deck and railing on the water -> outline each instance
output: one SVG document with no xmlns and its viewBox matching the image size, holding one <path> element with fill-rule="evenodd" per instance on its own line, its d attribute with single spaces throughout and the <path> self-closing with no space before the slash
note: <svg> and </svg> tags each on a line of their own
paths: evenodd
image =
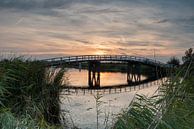
<svg viewBox="0 0 194 129">
<path fill-rule="evenodd" d="M 144 88 L 148 88 L 151 86 L 159 86 L 162 85 L 166 81 L 166 77 L 156 79 L 150 78 L 145 79 L 141 82 L 132 82 L 130 84 L 121 84 L 121 85 L 112 85 L 112 86 L 101 86 L 101 87 L 77 87 L 77 86 L 66 86 L 63 88 L 62 94 L 70 95 L 70 94 L 115 94 L 115 93 L 123 93 L 123 92 L 131 92 L 138 91 Z"/>
</svg>

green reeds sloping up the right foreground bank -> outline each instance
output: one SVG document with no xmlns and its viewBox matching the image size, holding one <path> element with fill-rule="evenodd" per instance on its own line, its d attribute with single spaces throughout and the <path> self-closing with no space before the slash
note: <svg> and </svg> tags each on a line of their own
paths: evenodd
<svg viewBox="0 0 194 129">
<path fill-rule="evenodd" d="M 137 95 L 115 129 L 193 129 L 194 65 L 182 66 L 152 97 Z"/>
</svg>

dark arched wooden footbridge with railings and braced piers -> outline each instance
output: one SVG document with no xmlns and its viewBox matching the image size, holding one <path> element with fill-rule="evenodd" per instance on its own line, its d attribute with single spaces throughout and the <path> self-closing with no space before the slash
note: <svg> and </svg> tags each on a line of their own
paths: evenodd
<svg viewBox="0 0 194 129">
<path fill-rule="evenodd" d="M 128 55 L 81 55 L 65 56 L 42 60 L 47 66 L 62 66 L 71 63 L 88 63 L 88 86 L 89 88 L 100 88 L 100 64 L 102 62 L 125 62 L 127 63 L 127 82 L 129 85 L 141 82 L 141 65 L 147 65 L 155 69 L 155 77 L 165 76 L 165 70 L 170 66 L 153 59 L 128 56 Z M 162 73 L 162 74 L 158 74 Z"/>
</svg>

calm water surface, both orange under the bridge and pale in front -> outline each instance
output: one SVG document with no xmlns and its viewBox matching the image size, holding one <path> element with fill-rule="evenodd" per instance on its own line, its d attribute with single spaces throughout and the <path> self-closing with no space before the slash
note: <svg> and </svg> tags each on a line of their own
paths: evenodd
<svg viewBox="0 0 194 129">
<path fill-rule="evenodd" d="M 69 68 L 65 73 L 66 79 L 68 79 L 71 86 L 87 86 L 88 85 L 88 71 Z M 101 73 L 101 86 L 120 85 L 127 83 L 127 74 L 120 72 L 103 72 Z M 142 79 L 146 79 L 142 76 Z M 159 84 L 160 85 L 160 84 Z M 117 114 L 121 113 L 123 109 L 127 108 L 134 98 L 135 94 L 144 94 L 146 96 L 152 96 L 157 94 L 155 92 L 158 85 L 152 85 L 144 89 L 138 89 L 137 91 L 103 94 L 100 99 L 102 105 L 99 107 L 101 114 L 99 114 L 99 129 L 112 128 L 113 123 L 116 120 Z M 63 94 L 64 92 L 64 94 Z M 96 100 L 95 94 L 65 94 L 63 91 L 61 94 L 61 111 L 65 112 L 66 122 L 71 126 L 77 126 L 81 129 L 95 129 L 96 128 Z M 104 124 L 105 114 L 109 114 L 107 125 Z"/>
</svg>

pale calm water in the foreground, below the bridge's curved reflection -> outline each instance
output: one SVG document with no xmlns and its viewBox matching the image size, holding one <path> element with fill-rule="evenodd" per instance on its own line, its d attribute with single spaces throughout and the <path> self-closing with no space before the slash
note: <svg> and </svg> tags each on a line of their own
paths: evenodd
<svg viewBox="0 0 194 129">
<path fill-rule="evenodd" d="M 159 84 L 160 85 L 160 84 Z M 99 129 L 109 128 L 113 126 L 118 113 L 127 108 L 134 98 L 135 94 L 152 96 L 159 85 L 152 85 L 144 89 L 131 92 L 102 94 L 102 105 L 99 107 L 101 114 L 99 115 Z M 137 86 L 138 87 L 138 86 Z M 63 93 L 63 92 L 62 92 Z M 68 113 L 72 123 L 81 129 L 96 128 L 96 103 L 94 94 L 69 94 L 61 96 L 61 109 Z M 107 115 L 109 118 L 107 118 Z M 108 119 L 108 120 L 107 120 Z M 107 123 L 106 123 L 107 120 Z M 104 123 L 105 122 L 105 123 Z"/>
</svg>

